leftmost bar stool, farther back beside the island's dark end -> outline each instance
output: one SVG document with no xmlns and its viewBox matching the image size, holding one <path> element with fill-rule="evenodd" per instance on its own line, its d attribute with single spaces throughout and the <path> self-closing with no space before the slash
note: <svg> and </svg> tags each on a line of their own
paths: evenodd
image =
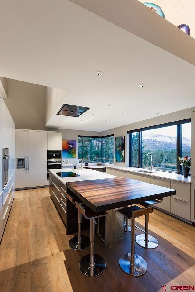
<svg viewBox="0 0 195 292">
<path fill-rule="evenodd" d="M 75 205 L 75 201 L 79 204 L 83 204 L 83 202 L 75 197 L 73 198 L 68 193 L 66 193 L 66 197 L 72 202 L 73 205 Z M 80 211 L 78 211 L 78 235 L 72 237 L 69 240 L 69 247 L 74 250 L 83 250 L 90 246 L 90 239 L 89 237 L 85 235 L 81 235 L 81 223 L 82 223 L 82 214 Z"/>
</svg>

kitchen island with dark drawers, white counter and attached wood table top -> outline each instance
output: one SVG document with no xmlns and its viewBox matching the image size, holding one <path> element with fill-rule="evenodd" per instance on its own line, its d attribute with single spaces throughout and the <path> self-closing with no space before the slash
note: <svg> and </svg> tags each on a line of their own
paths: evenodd
<svg viewBox="0 0 195 292">
<path fill-rule="evenodd" d="M 176 194 L 170 188 L 90 169 L 50 172 L 50 195 L 66 226 L 66 234 L 78 229 L 77 210 L 66 199 L 66 192 L 76 195 L 95 212 L 111 210 L 112 214 L 115 208 Z M 89 228 L 89 220 L 82 220 L 82 228 Z"/>
</svg>

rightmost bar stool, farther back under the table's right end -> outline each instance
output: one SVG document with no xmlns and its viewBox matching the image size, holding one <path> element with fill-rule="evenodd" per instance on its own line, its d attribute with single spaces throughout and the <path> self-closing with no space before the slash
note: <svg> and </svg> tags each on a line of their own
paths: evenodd
<svg viewBox="0 0 195 292">
<path fill-rule="evenodd" d="M 162 200 L 163 200 L 163 198 L 159 199 L 159 200 L 156 199 L 156 200 L 146 201 L 146 202 L 139 203 L 139 204 L 141 206 L 143 206 L 144 208 L 147 208 L 147 207 L 151 207 L 154 204 L 161 203 Z M 153 236 L 148 234 L 148 223 L 149 223 L 149 214 L 146 214 L 145 215 L 145 230 L 136 226 L 138 229 L 143 231 L 144 234 L 137 235 L 135 240 L 136 240 L 137 244 L 139 244 L 140 246 L 142 246 L 146 249 L 154 249 L 158 246 L 158 240 L 155 239 Z"/>
</svg>

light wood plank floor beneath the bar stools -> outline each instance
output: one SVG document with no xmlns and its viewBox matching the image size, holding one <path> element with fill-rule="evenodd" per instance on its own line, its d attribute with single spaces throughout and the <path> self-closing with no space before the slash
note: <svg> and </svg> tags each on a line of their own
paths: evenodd
<svg viewBox="0 0 195 292">
<path fill-rule="evenodd" d="M 144 225 L 144 218 L 137 220 Z M 156 292 L 172 285 L 195 285 L 195 227 L 155 210 L 149 215 L 151 235 L 159 246 L 135 246 L 147 262 L 141 277 L 124 273 L 119 257 L 130 252 L 130 237 L 109 249 L 95 237 L 95 253 L 106 260 L 106 270 L 86 277 L 79 259 L 90 249 L 73 251 L 48 188 L 16 191 L 0 245 L 1 292 Z M 84 232 L 89 234 L 89 230 Z M 136 234 L 140 234 L 136 229 Z"/>
</svg>

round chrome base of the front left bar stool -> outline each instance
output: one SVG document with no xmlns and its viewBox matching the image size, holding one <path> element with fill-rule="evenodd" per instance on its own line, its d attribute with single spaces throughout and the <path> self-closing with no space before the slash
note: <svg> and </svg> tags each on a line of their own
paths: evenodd
<svg viewBox="0 0 195 292">
<path fill-rule="evenodd" d="M 90 266 L 90 257 L 91 255 L 88 254 L 80 259 L 79 270 L 85 276 L 95 277 L 105 270 L 106 262 L 102 256 L 94 254 L 94 265 Z"/>
</svg>

